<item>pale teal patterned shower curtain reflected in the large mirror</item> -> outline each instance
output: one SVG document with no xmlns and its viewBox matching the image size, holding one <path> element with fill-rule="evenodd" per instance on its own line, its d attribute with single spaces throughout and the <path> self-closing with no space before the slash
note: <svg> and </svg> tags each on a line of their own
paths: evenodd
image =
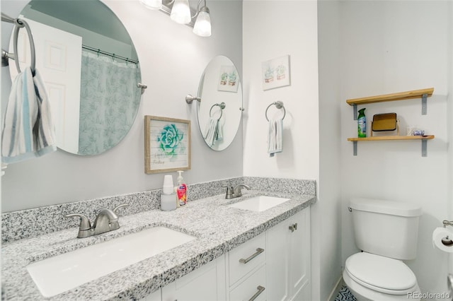
<svg viewBox="0 0 453 301">
<path fill-rule="evenodd" d="M 79 155 L 103 153 L 124 138 L 140 102 L 138 64 L 82 51 Z"/>
</svg>

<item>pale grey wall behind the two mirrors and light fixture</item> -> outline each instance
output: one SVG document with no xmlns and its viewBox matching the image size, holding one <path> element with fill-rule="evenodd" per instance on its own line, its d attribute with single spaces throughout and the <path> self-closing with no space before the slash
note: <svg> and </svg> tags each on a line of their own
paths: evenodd
<svg viewBox="0 0 453 301">
<path fill-rule="evenodd" d="M 18 16 L 27 1 L 1 1 L 1 11 Z M 129 31 L 142 68 L 142 95 L 137 119 L 125 139 L 101 155 L 79 157 L 57 151 L 40 159 L 9 165 L 2 181 L 2 211 L 46 206 L 102 196 L 156 189 L 164 174 L 144 174 L 144 115 L 190 119 L 192 169 L 188 183 L 242 175 L 242 133 L 225 151 L 210 150 L 202 140 L 195 105 L 185 103 L 187 93 L 197 93 L 207 63 L 219 54 L 230 57 L 241 75 L 242 3 L 210 1 L 212 36 L 198 37 L 192 28 L 179 25 L 139 1 L 104 1 Z M 1 44 L 8 49 L 12 26 L 2 23 Z M 11 80 L 1 69 L 1 102 L 8 99 Z M 176 177 L 176 173 L 173 173 Z M 176 179 L 176 178 L 175 178 Z"/>
</svg>

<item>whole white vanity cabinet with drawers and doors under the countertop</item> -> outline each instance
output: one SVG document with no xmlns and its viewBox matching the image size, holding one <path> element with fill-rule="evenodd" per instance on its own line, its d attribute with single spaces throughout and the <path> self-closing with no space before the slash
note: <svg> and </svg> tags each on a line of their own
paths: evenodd
<svg viewBox="0 0 453 301">
<path fill-rule="evenodd" d="M 310 209 L 141 301 L 311 300 Z"/>
</svg>

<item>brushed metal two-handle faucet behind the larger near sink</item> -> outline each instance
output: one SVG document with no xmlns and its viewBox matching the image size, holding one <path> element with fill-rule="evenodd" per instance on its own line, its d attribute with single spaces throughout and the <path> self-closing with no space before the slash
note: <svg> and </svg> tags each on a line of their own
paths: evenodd
<svg viewBox="0 0 453 301">
<path fill-rule="evenodd" d="M 98 235 L 101 233 L 117 230 L 120 228 L 120 223 L 118 223 L 118 216 L 117 211 L 118 209 L 129 206 L 127 203 L 123 203 L 119 206 L 116 206 L 113 210 L 110 209 L 102 209 L 96 219 L 94 220 L 93 227 L 91 227 L 90 220 L 84 216 L 83 214 L 73 213 L 67 214 L 64 216 L 65 218 L 73 218 L 79 217 L 80 218 L 80 225 L 79 225 L 79 234 L 77 237 L 84 238 L 90 237 L 93 235 Z"/>
</svg>

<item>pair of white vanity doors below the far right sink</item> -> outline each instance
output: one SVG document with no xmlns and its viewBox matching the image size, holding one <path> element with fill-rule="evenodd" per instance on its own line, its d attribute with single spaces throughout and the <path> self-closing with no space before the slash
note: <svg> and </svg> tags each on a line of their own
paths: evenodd
<svg viewBox="0 0 453 301">
<path fill-rule="evenodd" d="M 268 300 L 311 300 L 310 210 L 266 232 Z"/>
</svg>

